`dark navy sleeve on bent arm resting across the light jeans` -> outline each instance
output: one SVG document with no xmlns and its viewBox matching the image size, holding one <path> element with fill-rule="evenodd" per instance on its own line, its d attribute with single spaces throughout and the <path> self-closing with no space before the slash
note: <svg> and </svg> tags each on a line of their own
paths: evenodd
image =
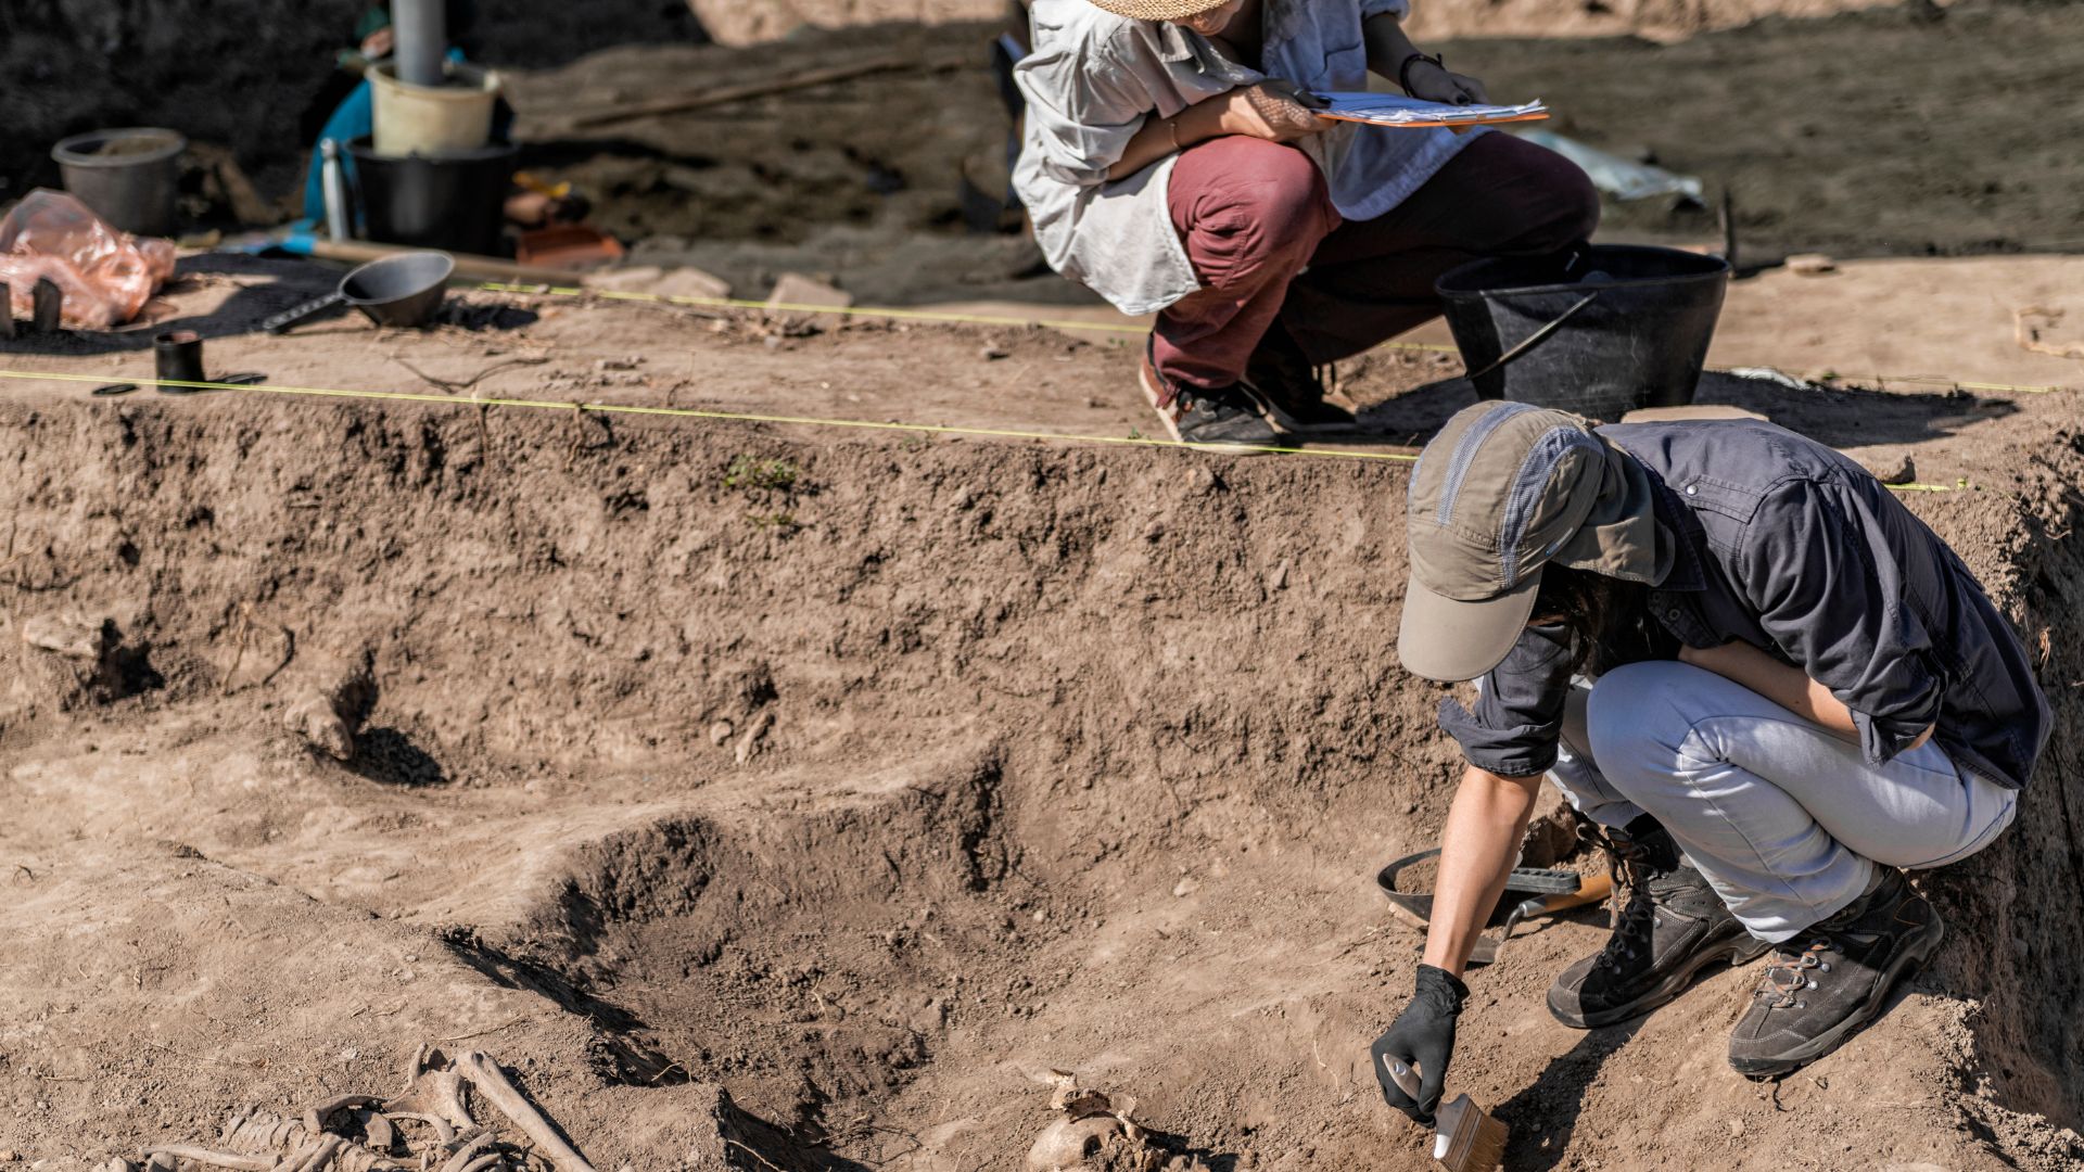
<svg viewBox="0 0 2084 1172">
<path fill-rule="evenodd" d="M 1944 680 L 1932 634 L 1903 601 L 1886 526 L 1844 488 L 1773 490 L 1755 526 L 1742 590 L 1759 626 L 1815 682 L 1853 709 L 1869 765 L 1909 749 L 1940 715 Z"/>
</svg>

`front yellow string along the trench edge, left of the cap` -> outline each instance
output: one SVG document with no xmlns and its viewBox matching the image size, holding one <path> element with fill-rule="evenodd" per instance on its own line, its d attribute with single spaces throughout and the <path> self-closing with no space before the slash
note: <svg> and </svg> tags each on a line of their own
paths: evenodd
<svg viewBox="0 0 2084 1172">
<path fill-rule="evenodd" d="M 106 384 L 108 375 L 75 375 L 58 371 L 0 371 L 0 377 L 23 382 L 92 382 Z M 329 386 L 275 386 L 275 384 L 231 384 L 231 382 L 181 382 L 158 377 L 123 380 L 138 386 L 177 386 L 185 390 L 242 390 L 258 394 L 304 394 L 317 398 L 373 398 L 386 402 L 442 402 L 448 407 L 519 407 L 531 411 L 594 411 L 600 415 L 667 415 L 673 419 L 719 419 L 731 423 L 792 423 L 804 428 L 859 428 L 869 432 L 915 432 L 932 436 L 992 436 L 1000 440 L 1057 440 L 1067 444 L 1115 444 L 1132 448 L 1188 448 L 1217 455 L 1284 455 L 1317 459 L 1388 461 L 1415 463 L 1411 453 L 1344 453 L 1334 448 L 1275 448 L 1257 444 L 1188 444 L 1182 440 L 1155 440 L 1148 436 L 1077 436 L 1061 432 L 1023 432 L 1013 428 L 957 428 L 948 423 L 877 423 L 873 419 L 819 419 L 811 415 L 756 415 L 748 411 L 702 411 L 696 407 L 642 407 L 629 402 L 556 402 L 546 398 L 465 398 L 454 394 L 427 394 L 413 390 L 340 390 Z"/>
</svg>

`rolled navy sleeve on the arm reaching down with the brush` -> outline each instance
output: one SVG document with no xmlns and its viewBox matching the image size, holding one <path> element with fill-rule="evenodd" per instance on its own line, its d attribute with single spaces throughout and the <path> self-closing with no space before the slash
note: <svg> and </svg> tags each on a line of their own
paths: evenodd
<svg viewBox="0 0 2084 1172">
<path fill-rule="evenodd" d="M 1569 630 L 1530 626 L 1478 684 L 1473 707 L 1453 697 L 1440 703 L 1440 730 L 1478 770 L 1500 778 L 1546 774 L 1557 763 L 1569 678 Z"/>
</svg>

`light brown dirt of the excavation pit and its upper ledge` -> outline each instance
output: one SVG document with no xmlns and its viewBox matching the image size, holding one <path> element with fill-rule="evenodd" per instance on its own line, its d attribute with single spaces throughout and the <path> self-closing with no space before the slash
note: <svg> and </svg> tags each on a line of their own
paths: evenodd
<svg viewBox="0 0 2084 1172">
<path fill-rule="evenodd" d="M 227 332 L 304 292 L 254 271 L 175 309 Z M 473 390 L 1142 421 L 1134 350 L 1048 329 L 469 300 L 425 336 L 219 338 L 213 369 L 427 390 L 392 355 L 542 359 Z M 1450 373 L 1382 352 L 1346 388 L 1419 440 Z M 63 1172 L 210 1141 L 244 1103 L 388 1093 L 433 1041 L 498 1055 L 598 1168 L 1015 1168 L 1050 1068 L 1219 1172 L 1428 1166 L 1365 1059 L 1417 961 L 1371 876 L 1457 774 L 1390 644 L 1405 465 L 6 388 L 0 1147 Z M 2038 646 L 2053 753 L 1996 847 L 1919 878 L 1938 961 L 1803 1074 L 1721 1059 L 1755 972 L 1550 1022 L 1584 911 L 1473 972 L 1453 1082 L 1511 1168 L 2074 1168 L 2076 407 L 1707 398 L 1961 484 L 1909 503 Z M 363 657 L 338 761 L 286 717 Z"/>
</svg>

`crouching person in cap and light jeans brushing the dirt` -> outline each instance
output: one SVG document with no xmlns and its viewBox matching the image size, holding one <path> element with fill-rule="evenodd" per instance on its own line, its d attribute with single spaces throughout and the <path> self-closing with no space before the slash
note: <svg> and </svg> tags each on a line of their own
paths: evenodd
<svg viewBox="0 0 2084 1172">
<path fill-rule="evenodd" d="M 1484 402 L 1411 478 L 1398 653 L 1482 678 L 1417 997 L 1375 1043 L 1425 1122 L 1463 963 L 1546 774 L 1617 861 L 1607 947 L 1548 1009 L 1646 1014 L 1771 953 L 1730 1064 L 1780 1076 L 1880 1016 L 1938 947 L 1903 868 L 2011 826 L 2051 711 L 1967 565 L 1865 469 L 1761 421 L 1626 423 Z M 1411 1101 L 1386 1064 L 1419 1070 Z"/>
</svg>

